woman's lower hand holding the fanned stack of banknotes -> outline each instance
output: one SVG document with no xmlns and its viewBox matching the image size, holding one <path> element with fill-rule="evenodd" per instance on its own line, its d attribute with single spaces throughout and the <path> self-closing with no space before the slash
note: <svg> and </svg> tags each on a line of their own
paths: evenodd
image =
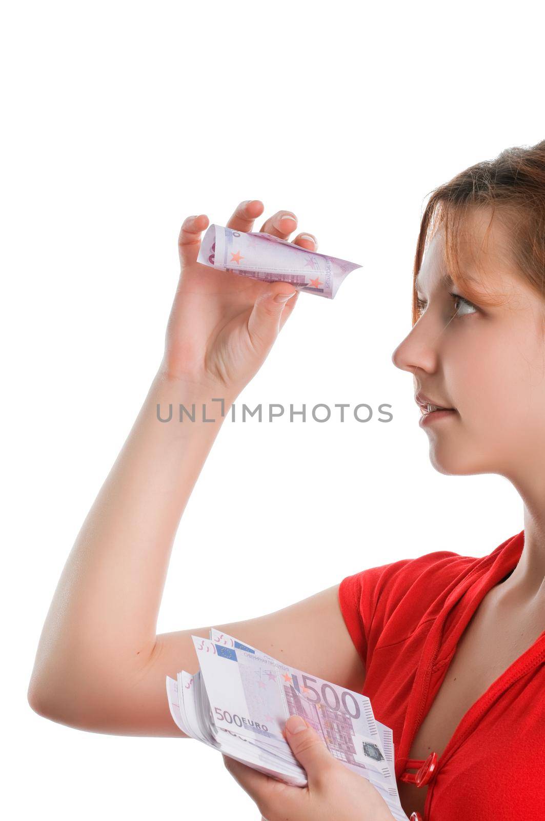
<svg viewBox="0 0 545 821">
<path fill-rule="evenodd" d="M 296 726 L 297 722 L 303 729 L 290 732 L 292 723 Z M 373 785 L 333 758 L 318 733 L 302 718 L 291 716 L 284 735 L 306 770 L 307 787 L 290 787 L 223 756 L 226 768 L 258 805 L 265 821 L 393 821 L 386 801 Z"/>
</svg>

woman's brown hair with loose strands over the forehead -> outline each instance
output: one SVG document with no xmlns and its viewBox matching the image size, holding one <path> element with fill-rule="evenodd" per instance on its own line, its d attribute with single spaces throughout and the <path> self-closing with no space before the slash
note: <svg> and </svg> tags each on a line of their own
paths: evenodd
<svg viewBox="0 0 545 821">
<path fill-rule="evenodd" d="M 420 316 L 414 282 L 424 250 L 437 230 L 445 232 L 444 260 L 447 273 L 462 287 L 469 300 L 481 305 L 501 305 L 497 296 L 479 295 L 460 268 L 460 223 L 475 208 L 492 212 L 486 236 L 497 217 L 511 236 L 516 268 L 543 297 L 545 289 L 545 140 L 532 146 L 504 149 L 497 158 L 483 160 L 456 174 L 451 181 L 430 192 L 420 222 L 414 256 L 412 323 Z"/>
</svg>

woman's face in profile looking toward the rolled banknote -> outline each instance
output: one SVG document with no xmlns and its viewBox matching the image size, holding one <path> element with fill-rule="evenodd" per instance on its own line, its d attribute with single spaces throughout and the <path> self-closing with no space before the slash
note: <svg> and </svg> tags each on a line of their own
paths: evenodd
<svg viewBox="0 0 545 821">
<path fill-rule="evenodd" d="M 506 229 L 475 210 L 462 239 L 460 267 L 479 294 L 504 296 L 488 308 L 451 296 L 463 289 L 442 280 L 442 231 L 433 237 L 419 271 L 423 313 L 392 361 L 414 374 L 414 392 L 456 413 L 428 418 L 430 459 L 447 474 L 498 473 L 522 484 L 545 483 L 545 335 L 543 300 L 516 273 Z M 476 240 L 475 259 L 464 236 Z M 479 267 L 478 267 L 479 266 Z M 485 284 L 483 284 L 485 283 Z"/>
</svg>

